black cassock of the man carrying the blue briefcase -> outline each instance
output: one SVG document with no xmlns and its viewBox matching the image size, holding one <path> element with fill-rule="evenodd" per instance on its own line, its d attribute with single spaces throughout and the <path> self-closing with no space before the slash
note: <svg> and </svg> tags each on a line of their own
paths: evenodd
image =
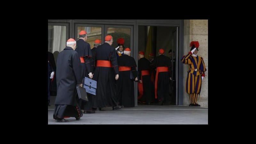
<svg viewBox="0 0 256 144">
<path fill-rule="evenodd" d="M 93 72 L 91 69 L 92 52 L 91 52 L 90 44 L 85 42 L 83 39 L 79 39 L 76 41 L 76 46 L 77 47 L 76 47 L 75 51 L 78 53 L 78 56 L 84 58 L 84 63 L 80 62 L 82 78 L 84 76 L 88 77 L 88 74 L 90 72 Z M 82 80 L 83 80 L 83 84 L 84 84 L 84 79 L 82 79 Z M 91 110 L 92 109 L 93 96 L 90 93 L 87 93 L 87 96 L 88 96 L 88 100 L 89 100 L 88 102 L 82 101 L 82 100 L 77 100 L 80 108 L 83 110 Z"/>
</svg>

